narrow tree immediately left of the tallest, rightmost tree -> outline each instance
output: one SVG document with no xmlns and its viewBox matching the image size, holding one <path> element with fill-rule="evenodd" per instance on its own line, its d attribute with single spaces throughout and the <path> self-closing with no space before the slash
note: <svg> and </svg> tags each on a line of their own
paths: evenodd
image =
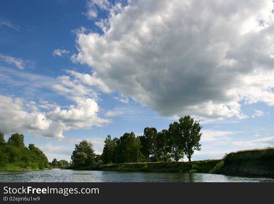
<svg viewBox="0 0 274 204">
<path fill-rule="evenodd" d="M 168 128 L 168 146 L 171 158 L 179 161 L 184 158 L 183 138 L 178 122 L 171 123 Z"/>
</svg>

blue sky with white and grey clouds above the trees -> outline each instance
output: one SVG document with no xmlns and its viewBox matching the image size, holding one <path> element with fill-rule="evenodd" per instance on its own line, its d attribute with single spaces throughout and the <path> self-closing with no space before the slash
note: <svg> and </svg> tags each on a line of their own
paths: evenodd
<svg viewBox="0 0 274 204">
<path fill-rule="evenodd" d="M 0 132 L 70 161 L 83 139 L 101 154 L 108 134 L 190 115 L 191 160 L 272 147 L 273 13 L 272 0 L 3 0 Z"/>
</svg>

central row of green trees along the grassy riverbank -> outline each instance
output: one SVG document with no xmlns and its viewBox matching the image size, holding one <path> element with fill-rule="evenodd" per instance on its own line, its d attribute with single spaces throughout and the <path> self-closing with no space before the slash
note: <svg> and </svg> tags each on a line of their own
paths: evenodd
<svg viewBox="0 0 274 204">
<path fill-rule="evenodd" d="M 111 135 L 107 135 L 102 155 L 96 155 L 92 143 L 83 140 L 75 145 L 71 156 L 72 167 L 83 168 L 100 162 L 113 164 L 179 161 L 184 156 L 191 161 L 194 151 L 201 150 L 201 128 L 199 121 L 185 116 L 160 132 L 154 127 L 146 127 L 144 134 L 137 137 L 134 132 L 113 139 Z"/>
</svg>

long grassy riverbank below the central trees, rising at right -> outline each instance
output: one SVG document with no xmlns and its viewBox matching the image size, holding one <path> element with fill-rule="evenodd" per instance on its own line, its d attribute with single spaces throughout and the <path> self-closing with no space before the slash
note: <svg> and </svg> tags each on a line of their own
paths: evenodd
<svg viewBox="0 0 274 204">
<path fill-rule="evenodd" d="M 212 173 L 234 176 L 274 178 L 274 148 L 244 150 L 226 154 L 222 159 L 187 162 L 149 162 L 97 165 L 79 170 L 121 172 Z"/>
</svg>

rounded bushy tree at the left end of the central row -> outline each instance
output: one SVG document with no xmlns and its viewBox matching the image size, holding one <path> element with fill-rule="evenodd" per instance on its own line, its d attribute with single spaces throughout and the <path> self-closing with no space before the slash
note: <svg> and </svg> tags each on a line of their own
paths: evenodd
<svg viewBox="0 0 274 204">
<path fill-rule="evenodd" d="M 83 158 L 80 158 L 81 156 L 83 156 Z M 92 143 L 87 142 L 87 140 L 83 140 L 79 144 L 75 144 L 75 148 L 71 155 L 71 160 L 75 168 L 79 168 L 79 166 L 87 167 L 93 165 L 95 163 L 95 153 Z"/>
</svg>

